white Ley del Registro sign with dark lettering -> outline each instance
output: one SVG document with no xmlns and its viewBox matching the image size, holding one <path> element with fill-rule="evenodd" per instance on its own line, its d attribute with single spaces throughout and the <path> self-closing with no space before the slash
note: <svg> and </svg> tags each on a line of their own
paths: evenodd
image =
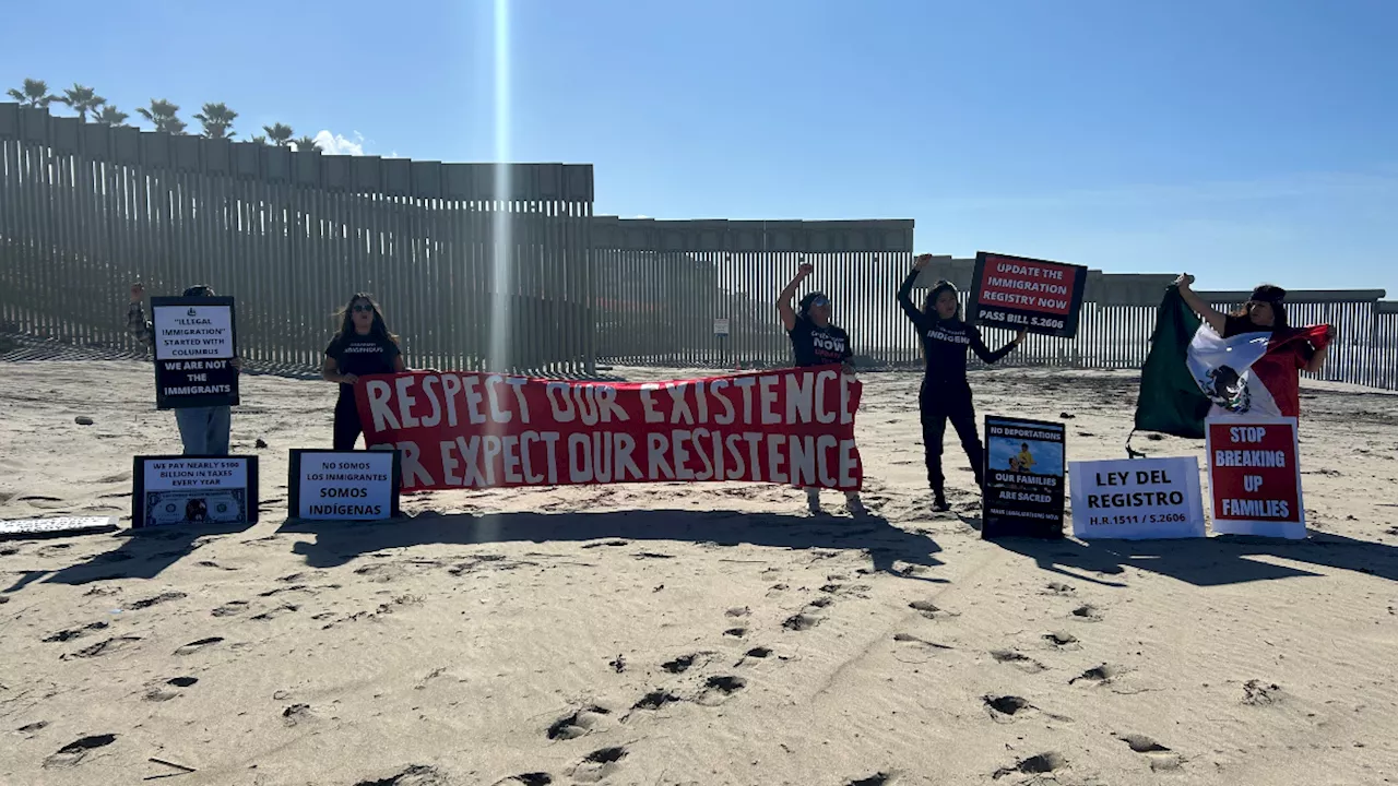
<svg viewBox="0 0 1398 786">
<path fill-rule="evenodd" d="M 1072 534 L 1092 538 L 1204 537 L 1199 462 L 1072 462 Z"/>
</svg>

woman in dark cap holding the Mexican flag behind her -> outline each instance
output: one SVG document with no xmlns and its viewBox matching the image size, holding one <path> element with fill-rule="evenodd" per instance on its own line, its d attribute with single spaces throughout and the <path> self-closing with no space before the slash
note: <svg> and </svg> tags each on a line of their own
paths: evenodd
<svg viewBox="0 0 1398 786">
<path fill-rule="evenodd" d="M 1276 411 L 1257 414 L 1300 417 L 1300 372 L 1318 373 L 1325 366 L 1335 329 L 1325 326 L 1323 333 L 1318 326 L 1292 327 L 1286 319 L 1286 290 L 1272 284 L 1253 290 L 1253 296 L 1239 310 L 1223 313 L 1191 290 L 1194 277 L 1188 273 L 1181 274 L 1174 283 L 1184 303 L 1223 338 L 1244 333 L 1272 334 L 1267 354 L 1254 361 L 1248 371 L 1267 386 L 1272 400 L 1276 401 Z M 1215 407 L 1215 414 L 1222 414 L 1222 410 Z"/>
</svg>

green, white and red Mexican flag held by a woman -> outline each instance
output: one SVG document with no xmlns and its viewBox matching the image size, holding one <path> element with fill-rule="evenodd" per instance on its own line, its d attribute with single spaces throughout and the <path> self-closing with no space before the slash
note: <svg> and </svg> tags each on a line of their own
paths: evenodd
<svg viewBox="0 0 1398 786">
<path fill-rule="evenodd" d="M 1296 417 L 1296 373 L 1310 347 L 1325 345 L 1325 334 L 1327 326 L 1316 324 L 1225 338 L 1170 287 L 1141 368 L 1135 429 L 1202 439 L 1211 413 Z"/>
</svg>

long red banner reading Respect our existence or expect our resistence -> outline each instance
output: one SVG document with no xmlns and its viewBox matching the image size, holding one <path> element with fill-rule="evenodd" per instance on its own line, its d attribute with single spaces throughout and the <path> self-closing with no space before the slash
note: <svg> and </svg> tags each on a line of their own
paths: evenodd
<svg viewBox="0 0 1398 786">
<path fill-rule="evenodd" d="M 861 386 L 839 366 L 671 382 L 500 373 L 359 378 L 369 448 L 403 490 L 752 481 L 857 491 Z"/>
</svg>

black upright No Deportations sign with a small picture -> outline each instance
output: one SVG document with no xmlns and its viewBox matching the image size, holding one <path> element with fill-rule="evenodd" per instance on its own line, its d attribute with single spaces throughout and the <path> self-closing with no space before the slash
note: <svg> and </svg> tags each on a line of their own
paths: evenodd
<svg viewBox="0 0 1398 786">
<path fill-rule="evenodd" d="M 980 537 L 1062 537 L 1062 424 L 986 417 Z"/>
</svg>

